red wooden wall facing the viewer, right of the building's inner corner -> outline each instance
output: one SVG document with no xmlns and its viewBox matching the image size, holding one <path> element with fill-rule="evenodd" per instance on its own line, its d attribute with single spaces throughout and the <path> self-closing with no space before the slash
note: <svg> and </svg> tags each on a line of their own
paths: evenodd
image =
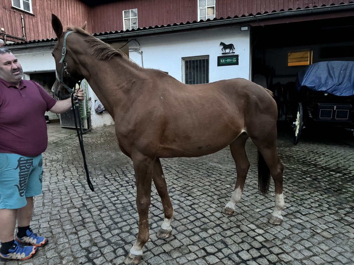
<svg viewBox="0 0 354 265">
<path fill-rule="evenodd" d="M 216 0 L 216 17 L 227 18 L 340 4 L 343 0 Z M 91 8 L 92 32 L 123 29 L 122 10 L 138 9 L 138 27 L 198 20 L 198 0 L 125 0 Z"/>
</svg>

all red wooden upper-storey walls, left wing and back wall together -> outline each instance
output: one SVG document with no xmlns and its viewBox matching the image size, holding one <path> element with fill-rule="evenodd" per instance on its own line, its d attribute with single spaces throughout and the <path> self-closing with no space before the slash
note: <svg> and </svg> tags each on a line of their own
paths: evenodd
<svg viewBox="0 0 354 265">
<path fill-rule="evenodd" d="M 87 21 L 90 33 L 123 29 L 122 11 L 137 8 L 138 27 L 193 22 L 198 19 L 198 0 L 120 0 L 87 6 L 79 0 L 32 0 L 33 14 L 11 7 L 11 0 L 0 0 L 0 28 L 6 34 L 22 37 L 20 14 L 25 20 L 25 41 L 55 37 L 51 14 L 64 26 L 82 26 Z M 297 8 L 340 4 L 343 0 L 216 0 L 216 17 L 227 18 Z M 99 2 L 99 1 L 98 1 Z M 0 32 L 4 39 L 4 32 Z M 21 41 L 6 37 L 7 40 Z"/>
</svg>

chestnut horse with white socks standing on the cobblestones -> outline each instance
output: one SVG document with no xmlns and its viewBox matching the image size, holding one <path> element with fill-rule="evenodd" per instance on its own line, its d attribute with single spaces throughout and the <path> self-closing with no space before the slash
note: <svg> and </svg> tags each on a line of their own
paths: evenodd
<svg viewBox="0 0 354 265">
<path fill-rule="evenodd" d="M 70 96 L 63 87 L 86 78 L 115 121 L 121 151 L 133 161 L 139 231 L 125 264 L 138 264 L 149 239 L 148 211 L 152 181 L 164 208 L 159 238 L 170 236 L 173 208 L 160 158 L 199 157 L 227 146 L 236 164 L 237 179 L 222 212 L 232 214 L 241 200 L 250 163 L 245 143 L 258 148 L 258 188 L 268 192 L 275 184 L 275 207 L 269 222 L 282 222 L 283 166 L 276 150 L 277 106 L 269 90 L 242 78 L 187 85 L 165 72 L 144 69 L 120 51 L 87 33 L 84 27 L 63 30 L 52 15 L 58 37 L 53 49 L 57 77 L 53 91 L 59 99 Z M 69 33 L 69 31 L 72 31 Z M 62 52 L 63 46 L 66 53 Z M 68 78 L 70 76 L 70 78 Z"/>
</svg>

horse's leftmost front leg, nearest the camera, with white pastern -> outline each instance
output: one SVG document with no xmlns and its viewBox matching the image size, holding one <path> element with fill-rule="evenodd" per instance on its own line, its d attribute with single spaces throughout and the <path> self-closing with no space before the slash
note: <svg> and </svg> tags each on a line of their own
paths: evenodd
<svg viewBox="0 0 354 265">
<path fill-rule="evenodd" d="M 136 206 L 139 214 L 138 237 L 124 259 L 125 264 L 136 265 L 143 256 L 143 247 L 149 240 L 149 206 L 151 202 L 151 182 L 154 168 L 154 158 L 142 154 L 132 155 L 136 179 Z"/>
</svg>

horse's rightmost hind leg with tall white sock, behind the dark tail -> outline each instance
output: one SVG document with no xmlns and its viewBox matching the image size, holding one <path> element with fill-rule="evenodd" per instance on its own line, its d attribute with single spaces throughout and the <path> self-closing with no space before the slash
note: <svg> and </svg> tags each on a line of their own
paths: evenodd
<svg viewBox="0 0 354 265">
<path fill-rule="evenodd" d="M 267 164 L 270 175 L 274 180 L 275 185 L 275 205 L 272 217 L 269 219 L 271 224 L 281 224 L 283 217 L 281 211 L 284 209 L 284 196 L 283 196 L 283 171 L 284 167 L 280 162 L 278 152 L 276 150 L 276 129 L 269 130 L 263 128 L 259 131 L 259 135 L 252 137 L 253 143 L 258 147 L 258 151 L 261 153 L 265 163 Z M 261 160 L 261 157 L 259 161 Z M 258 163 L 259 163 L 258 161 Z M 258 167 L 258 171 L 260 167 Z M 264 184 L 267 185 L 267 184 Z"/>
</svg>

